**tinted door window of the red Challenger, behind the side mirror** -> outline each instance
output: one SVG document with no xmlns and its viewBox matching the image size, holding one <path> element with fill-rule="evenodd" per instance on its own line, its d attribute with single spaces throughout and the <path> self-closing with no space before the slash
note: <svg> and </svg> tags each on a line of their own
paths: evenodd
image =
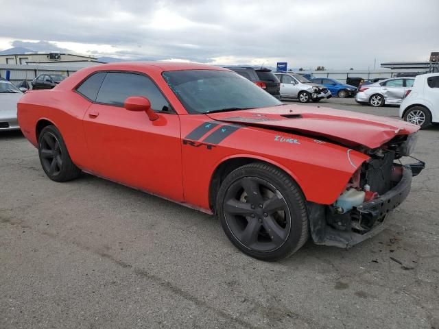
<svg viewBox="0 0 439 329">
<path fill-rule="evenodd" d="M 156 111 L 169 110 L 169 103 L 154 82 L 145 75 L 135 73 L 107 73 L 97 94 L 96 101 L 115 106 L 123 106 L 123 102 L 131 96 L 143 96 L 151 102 Z"/>
</svg>

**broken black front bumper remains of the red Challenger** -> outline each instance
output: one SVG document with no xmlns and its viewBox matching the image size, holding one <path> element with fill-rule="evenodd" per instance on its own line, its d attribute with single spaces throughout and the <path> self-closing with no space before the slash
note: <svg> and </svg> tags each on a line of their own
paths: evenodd
<svg viewBox="0 0 439 329">
<path fill-rule="evenodd" d="M 385 228 L 385 217 L 409 195 L 412 177 L 424 168 L 424 162 L 401 166 L 401 180 L 390 191 L 344 214 L 310 202 L 309 223 L 314 243 L 349 248 L 381 232 Z"/>
</svg>

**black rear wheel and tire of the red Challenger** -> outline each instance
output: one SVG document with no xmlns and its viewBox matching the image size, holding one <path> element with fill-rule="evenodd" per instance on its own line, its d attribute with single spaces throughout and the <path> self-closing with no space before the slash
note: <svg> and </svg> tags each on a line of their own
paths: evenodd
<svg viewBox="0 0 439 329">
<path fill-rule="evenodd" d="M 47 125 L 38 136 L 38 156 L 47 177 L 55 182 L 78 178 L 81 170 L 72 162 L 58 129 Z"/>
</svg>

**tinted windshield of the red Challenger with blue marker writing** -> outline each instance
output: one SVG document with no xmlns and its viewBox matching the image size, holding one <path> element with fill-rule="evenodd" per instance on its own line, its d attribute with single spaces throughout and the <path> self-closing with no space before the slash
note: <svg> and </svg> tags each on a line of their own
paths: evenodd
<svg viewBox="0 0 439 329">
<path fill-rule="evenodd" d="M 163 77 L 191 114 L 282 105 L 262 88 L 230 71 L 163 72 Z"/>
</svg>

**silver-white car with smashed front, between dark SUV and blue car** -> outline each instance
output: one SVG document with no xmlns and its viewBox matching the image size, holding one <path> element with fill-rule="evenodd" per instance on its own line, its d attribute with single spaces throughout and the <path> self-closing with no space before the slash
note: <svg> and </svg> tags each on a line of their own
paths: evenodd
<svg viewBox="0 0 439 329">
<path fill-rule="evenodd" d="M 276 72 L 274 75 L 281 80 L 281 99 L 296 98 L 300 103 L 306 103 L 332 97 L 328 88 L 313 84 L 300 74 Z"/>
</svg>

